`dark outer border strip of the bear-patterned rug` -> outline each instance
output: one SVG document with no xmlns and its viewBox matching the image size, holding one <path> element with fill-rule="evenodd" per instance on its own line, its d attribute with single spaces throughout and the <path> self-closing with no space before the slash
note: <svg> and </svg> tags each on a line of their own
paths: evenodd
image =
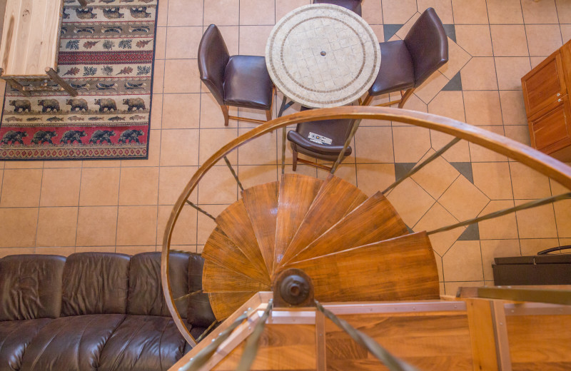
<svg viewBox="0 0 571 371">
<path fill-rule="evenodd" d="M 151 61 L 151 90 L 148 103 L 148 133 L 147 133 L 147 148 L 145 157 L 109 157 L 109 158 L 93 158 L 93 157 L 71 157 L 71 158 L 0 158 L 0 161 L 117 161 L 117 160 L 148 160 L 148 149 L 151 144 L 151 113 L 153 112 L 153 85 L 155 83 L 155 56 L 156 56 L 156 31 L 158 28 L 158 3 L 161 0 L 156 0 L 155 11 L 155 34 L 153 37 L 153 59 Z M 9 88 L 9 83 L 6 82 L 4 86 L 4 99 L 2 101 L 2 111 L 0 112 L 0 124 L 4 118 L 4 106 L 6 105 L 6 91 Z"/>
</svg>

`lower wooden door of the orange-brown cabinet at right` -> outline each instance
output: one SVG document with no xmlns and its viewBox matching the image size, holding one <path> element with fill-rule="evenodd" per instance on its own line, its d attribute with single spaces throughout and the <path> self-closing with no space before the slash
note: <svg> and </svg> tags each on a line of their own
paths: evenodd
<svg viewBox="0 0 571 371">
<path fill-rule="evenodd" d="M 569 97 L 557 99 L 529 121 L 533 148 L 543 153 L 553 153 L 571 146 L 571 108 Z"/>
</svg>

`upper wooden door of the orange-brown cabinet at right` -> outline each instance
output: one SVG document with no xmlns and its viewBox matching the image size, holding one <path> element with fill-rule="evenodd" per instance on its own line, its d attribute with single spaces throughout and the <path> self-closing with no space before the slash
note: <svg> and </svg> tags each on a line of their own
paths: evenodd
<svg viewBox="0 0 571 371">
<path fill-rule="evenodd" d="M 527 117 L 557 101 L 567 93 L 560 51 L 542 61 L 522 77 Z"/>
</svg>

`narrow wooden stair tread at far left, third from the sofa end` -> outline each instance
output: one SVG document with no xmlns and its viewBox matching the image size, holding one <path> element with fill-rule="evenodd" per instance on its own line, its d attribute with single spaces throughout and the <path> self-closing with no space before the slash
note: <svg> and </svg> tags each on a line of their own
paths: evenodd
<svg viewBox="0 0 571 371">
<path fill-rule="evenodd" d="M 260 283 L 271 285 L 270 276 L 258 270 L 218 227 L 214 228 L 208 237 L 202 257 Z"/>
</svg>

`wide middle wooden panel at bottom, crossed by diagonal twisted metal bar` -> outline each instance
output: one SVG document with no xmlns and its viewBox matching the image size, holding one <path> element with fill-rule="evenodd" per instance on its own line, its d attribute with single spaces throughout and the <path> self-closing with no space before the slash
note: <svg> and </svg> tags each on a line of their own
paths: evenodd
<svg viewBox="0 0 571 371">
<path fill-rule="evenodd" d="M 458 312 L 343 315 L 393 355 L 423 371 L 472 370 L 468 317 Z M 388 370 L 330 320 L 325 322 L 328 370 Z"/>
</svg>

